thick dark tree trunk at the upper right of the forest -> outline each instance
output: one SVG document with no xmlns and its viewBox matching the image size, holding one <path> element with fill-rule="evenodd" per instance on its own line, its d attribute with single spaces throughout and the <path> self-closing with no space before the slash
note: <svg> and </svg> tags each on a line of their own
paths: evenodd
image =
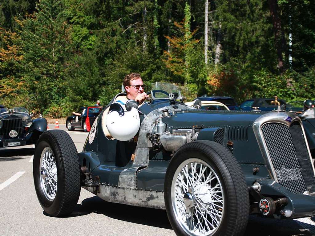
<svg viewBox="0 0 315 236">
<path fill-rule="evenodd" d="M 278 69 L 280 73 L 284 72 L 284 63 L 283 63 L 283 48 L 285 45 L 284 42 L 284 34 L 281 28 L 281 20 L 279 15 L 279 6 L 278 0 L 268 0 L 270 14 L 272 17 L 272 24 L 273 24 L 273 32 L 275 35 L 275 42 L 277 48 L 277 56 L 278 56 Z"/>
</svg>

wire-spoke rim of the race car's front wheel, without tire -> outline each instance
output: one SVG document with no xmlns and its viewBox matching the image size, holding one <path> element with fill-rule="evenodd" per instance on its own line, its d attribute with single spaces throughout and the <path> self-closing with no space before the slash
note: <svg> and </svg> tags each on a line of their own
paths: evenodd
<svg viewBox="0 0 315 236">
<path fill-rule="evenodd" d="M 211 235 L 224 214 L 224 194 L 219 177 L 198 158 L 182 162 L 172 181 L 173 211 L 188 235 Z"/>
</svg>

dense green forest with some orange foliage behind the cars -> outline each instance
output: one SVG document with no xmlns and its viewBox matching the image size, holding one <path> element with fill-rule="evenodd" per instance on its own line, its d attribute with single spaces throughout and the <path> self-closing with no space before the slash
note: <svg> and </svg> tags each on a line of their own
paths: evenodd
<svg viewBox="0 0 315 236">
<path fill-rule="evenodd" d="M 309 0 L 2 0 L 0 104 L 54 118 L 123 77 L 208 94 L 315 98 L 315 4 Z M 148 91 L 148 89 L 146 89 Z"/>
</svg>

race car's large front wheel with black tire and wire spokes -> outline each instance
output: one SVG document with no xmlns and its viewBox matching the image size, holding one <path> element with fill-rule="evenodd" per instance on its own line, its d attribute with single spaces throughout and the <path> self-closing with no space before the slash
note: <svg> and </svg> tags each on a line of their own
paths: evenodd
<svg viewBox="0 0 315 236">
<path fill-rule="evenodd" d="M 169 163 L 164 200 L 176 235 L 242 235 L 249 216 L 243 172 L 221 144 L 195 141 Z"/>
</svg>

